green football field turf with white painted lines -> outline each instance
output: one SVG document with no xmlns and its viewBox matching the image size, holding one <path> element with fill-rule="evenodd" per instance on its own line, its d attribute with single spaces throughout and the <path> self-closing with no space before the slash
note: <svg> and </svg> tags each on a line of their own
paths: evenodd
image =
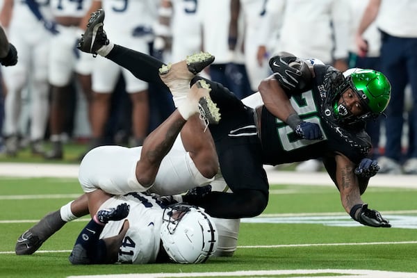
<svg viewBox="0 0 417 278">
<path fill-rule="evenodd" d="M 264 213 L 242 221 L 234 256 L 201 265 L 71 265 L 88 218 L 66 224 L 35 254 L 15 255 L 23 231 L 80 194 L 73 178 L 0 177 L 0 277 L 417 277 L 414 188 L 368 188 L 363 199 L 393 224 L 382 229 L 351 220 L 335 187 L 272 185 Z"/>
</svg>

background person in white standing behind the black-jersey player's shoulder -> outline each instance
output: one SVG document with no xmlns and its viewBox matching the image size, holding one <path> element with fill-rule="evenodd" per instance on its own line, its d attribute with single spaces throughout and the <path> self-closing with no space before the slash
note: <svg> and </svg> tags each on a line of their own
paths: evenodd
<svg viewBox="0 0 417 278">
<path fill-rule="evenodd" d="M 288 51 L 300 58 L 315 58 L 337 70 L 347 70 L 350 13 L 347 0 L 277 1 L 282 25 L 275 52 Z M 267 10 L 268 12 L 268 10 Z M 316 172 L 322 163 L 309 160 L 297 171 Z"/>
</svg>

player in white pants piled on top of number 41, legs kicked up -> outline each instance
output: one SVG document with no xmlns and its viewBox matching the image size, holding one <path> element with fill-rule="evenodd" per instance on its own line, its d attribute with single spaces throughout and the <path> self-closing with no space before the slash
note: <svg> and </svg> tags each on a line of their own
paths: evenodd
<svg viewBox="0 0 417 278">
<path fill-rule="evenodd" d="M 202 57 L 199 58 L 200 56 Z M 197 62 L 191 63 L 192 65 L 202 64 L 202 67 L 204 63 L 207 65 L 212 61 L 211 56 L 204 54 L 191 56 L 191 60 L 193 59 L 197 59 Z M 179 63 L 183 67 L 185 64 L 185 61 Z M 203 86 L 200 83 L 193 86 L 190 96 L 194 95 L 194 99 L 199 99 L 201 95 L 207 96 L 208 88 L 202 88 Z M 204 129 L 199 116 L 194 115 L 198 111 L 197 104 L 192 106 L 195 108 L 188 122 L 195 129 L 190 130 Z M 149 190 L 152 193 L 170 195 L 184 193 L 190 188 L 205 186 L 211 182 L 214 190 L 227 191 L 229 188 L 220 177 L 213 181 L 218 172 L 218 163 L 210 133 L 199 132 L 199 136 L 194 136 L 192 140 L 188 134 L 184 136 L 188 140 L 180 140 L 177 135 L 184 123 L 179 123 L 179 118 L 181 120 L 178 111 L 171 115 L 149 134 L 143 147 L 102 146 L 88 152 L 79 170 L 79 181 L 85 195 L 46 215 L 22 234 L 17 241 L 16 254 L 33 254 L 44 240 L 66 222 L 85 215 L 88 211 L 98 211 L 109 194 L 121 195 Z M 218 222 L 221 231 L 216 254 L 231 256 L 236 250 L 239 220 L 216 219 L 216 225 Z"/>
</svg>

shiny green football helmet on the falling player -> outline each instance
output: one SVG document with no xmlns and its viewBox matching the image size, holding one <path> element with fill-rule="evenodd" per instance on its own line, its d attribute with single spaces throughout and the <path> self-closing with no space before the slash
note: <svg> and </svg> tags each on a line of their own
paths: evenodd
<svg viewBox="0 0 417 278">
<path fill-rule="evenodd" d="M 338 99 L 347 88 L 357 93 L 366 112 L 361 116 L 354 116 Z M 375 70 L 355 70 L 345 78 L 333 99 L 333 112 L 338 121 L 353 124 L 359 121 L 375 119 L 381 115 L 391 99 L 391 84 L 382 72 Z"/>
</svg>

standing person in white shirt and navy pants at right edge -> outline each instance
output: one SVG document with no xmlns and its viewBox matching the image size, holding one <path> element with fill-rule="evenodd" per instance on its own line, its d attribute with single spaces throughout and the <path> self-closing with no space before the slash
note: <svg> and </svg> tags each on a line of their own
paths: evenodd
<svg viewBox="0 0 417 278">
<path fill-rule="evenodd" d="M 384 156 L 379 158 L 380 172 L 417 174 L 417 149 L 402 163 L 402 127 L 404 124 L 404 89 L 411 85 L 412 119 L 417 117 L 417 28 L 415 15 L 417 1 L 370 0 L 359 25 L 356 42 L 358 49 L 368 49 L 363 33 L 376 22 L 382 36 L 381 70 L 391 81 L 392 97 L 386 109 L 386 145 Z M 416 140 L 416 121 L 411 121 L 410 137 Z M 410 142 L 411 146 L 415 142 Z"/>
</svg>

